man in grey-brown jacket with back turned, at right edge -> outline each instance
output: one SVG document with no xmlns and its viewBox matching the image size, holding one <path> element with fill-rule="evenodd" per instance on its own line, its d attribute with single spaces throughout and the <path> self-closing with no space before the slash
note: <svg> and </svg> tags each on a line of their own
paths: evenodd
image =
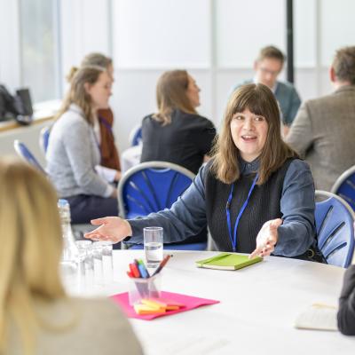
<svg viewBox="0 0 355 355">
<path fill-rule="evenodd" d="M 355 164 L 355 46 L 336 51 L 329 74 L 335 91 L 304 102 L 286 138 L 326 191 Z"/>
</svg>

